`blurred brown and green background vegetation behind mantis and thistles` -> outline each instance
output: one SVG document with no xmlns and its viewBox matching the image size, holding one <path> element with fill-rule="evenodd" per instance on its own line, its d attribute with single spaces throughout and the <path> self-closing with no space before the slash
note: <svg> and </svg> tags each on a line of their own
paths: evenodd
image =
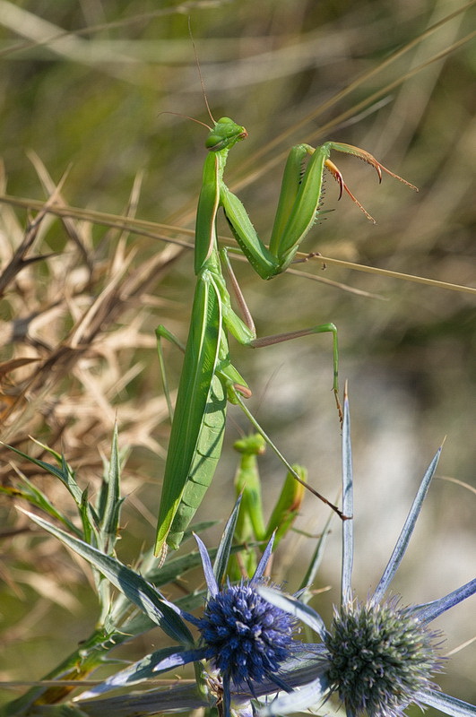
<svg viewBox="0 0 476 717">
<path fill-rule="evenodd" d="M 188 17 L 214 116 L 247 127 L 247 142 L 229 157 L 227 181 L 264 238 L 290 145 L 352 143 L 420 193 L 390 177 L 378 186 L 373 170 L 338 157 L 377 223 L 348 197 L 337 203 L 328 178 L 323 208 L 332 211 L 304 251 L 474 288 L 473 2 L 0 0 L 0 437 L 39 457 L 28 436 L 64 451 L 93 491 L 117 418 L 121 445 L 131 449 L 125 562 L 151 543 L 169 434 L 153 330 L 166 324 L 185 339 L 195 286 L 190 248 L 163 240 L 193 242 L 185 230 L 193 228 L 204 157 L 205 130 L 163 114 L 208 121 Z M 66 171 L 56 211 L 76 209 L 33 222 Z M 176 229 L 166 232 L 159 222 Z M 229 235 L 224 221 L 220 230 Z M 287 274 L 267 283 L 237 262 L 260 335 L 327 321 L 339 328 L 353 421 L 354 582 L 365 597 L 444 436 L 439 477 L 474 486 L 475 289 L 331 262 L 325 271 L 318 262 L 297 269 L 317 281 Z M 264 427 L 291 461 L 308 466 L 321 492 L 336 497 L 340 430 L 330 338 L 261 351 L 232 341 L 231 355 L 253 388 L 250 406 Z M 181 358 L 173 347 L 168 358 L 177 386 Z M 248 428 L 238 411 L 229 416 L 203 518 L 225 517 L 233 503 L 231 445 Z M 13 462 L 6 449 L 0 457 L 5 486 L 22 471 L 65 507 L 65 491 L 52 479 Z M 281 466 L 267 456 L 262 474 L 271 509 Z M 395 583 L 404 601 L 436 599 L 473 577 L 475 504 L 474 488 L 435 480 Z M 326 511 L 315 498 L 307 497 L 301 513 L 302 531 L 322 530 Z M 0 678 L 34 680 L 91 632 L 91 576 L 18 517 L 11 497 L 0 516 Z M 212 531 L 206 536 L 210 545 L 215 538 Z M 286 577 L 290 590 L 312 549 L 313 541 L 298 535 L 280 549 L 277 579 Z M 330 586 L 315 604 L 327 618 L 338 595 L 339 558 L 334 522 L 316 584 Z M 472 637 L 473 610 L 469 600 L 440 620 L 448 651 Z M 138 659 L 151 640 L 145 635 L 121 655 Z M 474 703 L 474 671 L 470 646 L 454 655 L 442 687 Z"/>
</svg>

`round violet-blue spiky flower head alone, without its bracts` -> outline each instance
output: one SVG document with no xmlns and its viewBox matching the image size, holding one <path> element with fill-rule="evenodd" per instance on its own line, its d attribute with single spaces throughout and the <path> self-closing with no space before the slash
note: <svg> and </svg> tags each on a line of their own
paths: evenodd
<svg viewBox="0 0 476 717">
<path fill-rule="evenodd" d="M 198 629 L 205 657 L 236 685 L 273 678 L 290 657 L 296 621 L 256 592 L 253 584 L 229 585 L 208 600 Z"/>
</svg>

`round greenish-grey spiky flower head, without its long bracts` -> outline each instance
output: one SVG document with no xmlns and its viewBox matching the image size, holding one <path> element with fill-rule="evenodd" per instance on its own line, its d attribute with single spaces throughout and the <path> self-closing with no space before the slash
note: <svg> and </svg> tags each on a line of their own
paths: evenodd
<svg viewBox="0 0 476 717">
<path fill-rule="evenodd" d="M 431 676 L 442 664 L 438 636 L 398 600 L 351 602 L 335 611 L 325 635 L 331 691 L 347 713 L 399 717 L 421 691 L 437 688 Z"/>
</svg>

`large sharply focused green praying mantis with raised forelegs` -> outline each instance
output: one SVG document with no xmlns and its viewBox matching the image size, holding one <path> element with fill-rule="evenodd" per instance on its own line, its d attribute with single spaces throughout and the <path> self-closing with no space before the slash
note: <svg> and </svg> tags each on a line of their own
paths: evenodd
<svg viewBox="0 0 476 717">
<path fill-rule="evenodd" d="M 165 559 L 167 546 L 172 549 L 177 549 L 179 546 L 186 526 L 210 485 L 221 455 L 227 402 L 238 403 L 241 406 L 294 478 L 300 480 L 298 473 L 293 471 L 290 464 L 281 456 L 243 402 L 244 398 L 251 395 L 251 391 L 245 379 L 231 364 L 228 333 L 240 343 L 253 348 L 289 341 L 308 334 L 331 333 L 333 393 L 340 410 L 335 325 L 318 324 L 301 331 L 256 338 L 255 325 L 231 269 L 227 249 L 219 249 L 218 246 L 216 218 L 219 209 L 223 209 L 239 248 L 255 272 L 262 279 L 269 280 L 288 269 L 301 241 L 315 223 L 325 169 L 330 171 L 338 182 L 340 194 L 342 195 L 343 191 L 347 192 L 365 212 L 344 183 L 339 169 L 330 160 L 331 151 L 344 152 L 366 161 L 376 169 L 379 180 L 384 171 L 404 184 L 412 186 L 402 177 L 383 167 L 367 151 L 350 144 L 326 142 L 316 148 L 308 144 L 298 144 L 292 147 L 286 162 L 273 231 L 269 246 L 265 246 L 257 236 L 243 203 L 230 192 L 223 180 L 229 150 L 236 143 L 246 139 L 247 130 L 229 117 L 221 117 L 218 122 L 212 118 L 212 122 L 213 126 L 208 127 L 210 134 L 205 141 L 208 154 L 203 166 L 202 188 L 196 212 L 195 297 L 160 497 L 155 543 L 155 554 L 160 557 L 160 561 Z M 368 212 L 365 213 L 371 219 Z M 225 266 L 229 272 L 231 286 L 243 318 L 231 306 L 222 266 Z M 157 334 L 159 339 L 171 338 L 163 326 L 158 327 Z M 349 517 L 343 515 L 337 506 L 331 504 L 314 489 L 310 489 L 330 505 L 341 518 Z"/>
</svg>

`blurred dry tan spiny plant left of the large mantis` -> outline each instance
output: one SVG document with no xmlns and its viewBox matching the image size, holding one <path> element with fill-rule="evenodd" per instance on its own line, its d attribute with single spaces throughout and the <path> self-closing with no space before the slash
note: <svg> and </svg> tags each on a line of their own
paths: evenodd
<svg viewBox="0 0 476 717">
<path fill-rule="evenodd" d="M 32 241 L 37 238 L 40 220 L 48 214 L 49 207 L 58 211 L 65 208 L 60 187 L 54 186 L 38 157 L 31 155 L 30 158 L 38 169 L 43 186 L 52 194 L 34 224 L 30 226 L 27 232 L 28 241 L 23 239 L 21 249 L 15 252 L 17 256 L 24 255 Z M 134 218 L 140 185 L 138 177 L 134 182 L 127 211 L 122 217 L 125 225 Z M 124 391 L 125 386 L 143 370 L 143 366 L 133 359 L 131 367 L 124 372 L 117 360 L 117 354 L 125 347 L 141 350 L 143 347 L 152 349 L 154 345 L 150 334 L 147 338 L 143 335 L 145 315 L 141 316 L 139 313 L 134 318 L 126 317 L 135 307 L 140 306 L 149 289 L 160 282 L 180 251 L 177 247 L 168 246 L 153 255 L 151 261 L 137 262 L 136 248 L 133 246 L 126 249 L 127 229 L 119 229 L 117 239 L 109 245 L 116 248 L 104 271 L 98 263 L 102 245 L 96 249 L 92 248 L 91 234 L 86 225 L 78 223 L 78 220 L 72 217 L 63 217 L 62 221 L 66 236 L 71 241 L 71 246 L 76 247 L 76 252 L 66 254 L 62 260 L 57 257 L 57 267 L 55 262 L 49 263 L 52 281 L 48 285 L 48 296 L 56 295 L 61 298 L 46 302 L 42 299 L 42 305 L 33 310 L 29 299 L 30 315 L 27 316 L 18 304 L 20 297 L 17 297 L 15 314 L 18 319 L 15 326 L 3 326 L 4 336 L 10 336 L 8 341 L 12 342 L 13 347 L 27 344 L 37 354 L 31 358 L 13 358 L 7 367 L 20 367 L 21 360 L 23 367 L 33 362 L 39 364 L 28 374 L 24 374 L 22 382 L 15 388 L 14 395 L 8 396 L 8 405 L 3 414 L 3 435 L 8 440 L 12 438 L 13 432 L 16 444 L 24 441 L 29 433 L 38 432 L 41 417 L 47 420 L 51 428 L 55 427 L 50 441 L 52 447 L 61 438 L 63 445 L 78 445 L 79 448 L 78 440 L 73 436 L 76 432 L 79 432 L 78 437 L 84 436 L 89 430 L 88 423 L 90 428 L 95 426 L 96 432 L 101 423 L 104 439 L 107 440 L 117 413 L 115 395 Z M 13 281 L 14 275 L 22 272 L 25 263 L 17 260 L 12 266 L 15 267 L 15 273 L 12 273 L 13 269 L 9 269 L 6 274 L 7 277 L 12 276 L 10 281 Z M 84 275 L 81 266 L 87 269 Z M 30 278 L 33 279 L 33 275 Z M 23 281 L 25 279 L 26 277 Z M 73 320 L 73 324 L 65 331 L 68 317 Z M 48 339 L 42 330 L 46 322 Z M 120 324 L 123 324 L 122 329 L 119 329 Z M 112 328 L 115 331 L 111 333 Z M 108 374 L 101 370 L 102 378 L 98 380 L 95 375 L 105 361 Z M 78 396 L 74 398 L 69 409 L 67 398 L 60 399 L 57 393 L 67 376 L 75 376 L 84 392 L 79 402 Z M 105 382 L 106 376 L 108 380 Z M 111 393 L 113 386 L 115 388 Z M 90 408 L 87 408 L 88 404 Z M 151 431 L 157 422 L 165 417 L 164 407 L 165 403 L 153 401 L 147 410 L 141 408 L 143 422 L 140 430 L 133 428 L 136 414 L 130 407 L 121 416 L 125 425 L 132 428 L 134 441 L 139 440 L 156 453 L 160 453 L 161 449 L 157 441 L 151 439 Z M 66 428 L 68 425 L 69 428 Z"/>
</svg>

